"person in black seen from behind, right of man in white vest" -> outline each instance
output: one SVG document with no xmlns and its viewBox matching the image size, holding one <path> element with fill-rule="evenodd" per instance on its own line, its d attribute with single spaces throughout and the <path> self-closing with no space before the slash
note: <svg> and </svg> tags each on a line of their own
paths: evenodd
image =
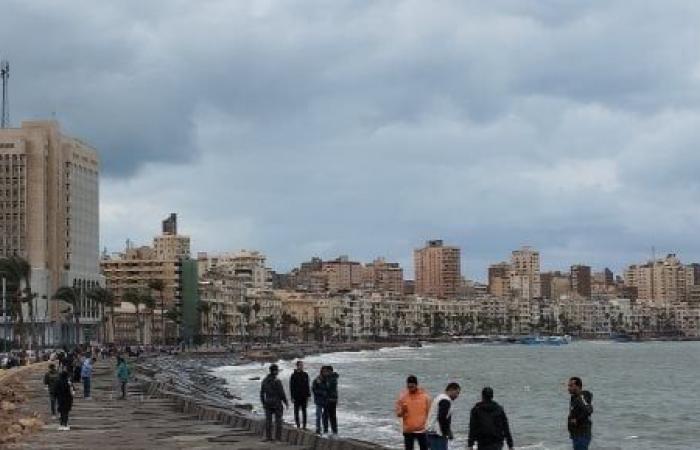
<svg viewBox="0 0 700 450">
<path fill-rule="evenodd" d="M 467 447 L 479 450 L 501 450 L 503 441 L 513 450 L 513 437 L 508 426 L 508 417 L 501 405 L 493 401 L 493 389 L 485 387 L 481 391 L 481 401 L 474 405 L 469 417 L 469 439 Z"/>
</svg>

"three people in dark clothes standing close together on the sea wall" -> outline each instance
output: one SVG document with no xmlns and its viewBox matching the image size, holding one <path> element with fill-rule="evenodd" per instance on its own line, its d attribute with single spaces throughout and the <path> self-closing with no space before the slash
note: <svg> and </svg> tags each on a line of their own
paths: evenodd
<svg viewBox="0 0 700 450">
<path fill-rule="evenodd" d="M 265 410 L 265 440 L 280 440 L 282 435 L 282 414 L 284 408 L 289 408 L 289 402 L 282 381 L 278 378 L 279 366 L 272 364 L 270 373 L 260 385 L 260 402 Z M 296 369 L 289 378 L 289 392 L 294 403 L 294 421 L 297 428 L 307 429 L 307 408 L 313 395 L 316 406 L 316 434 L 326 434 L 329 430 L 331 438 L 338 435 L 338 373 L 333 366 L 322 366 L 320 373 L 313 382 L 304 371 L 304 362 L 297 361 Z M 273 437 L 272 421 L 275 421 Z"/>
</svg>

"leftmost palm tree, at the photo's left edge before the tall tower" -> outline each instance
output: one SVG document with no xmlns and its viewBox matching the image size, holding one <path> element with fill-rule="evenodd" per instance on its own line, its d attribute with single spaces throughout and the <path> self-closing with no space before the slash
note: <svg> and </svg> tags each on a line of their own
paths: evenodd
<svg viewBox="0 0 700 450">
<path fill-rule="evenodd" d="M 29 315 L 32 317 L 32 341 L 34 341 L 34 305 L 31 293 L 32 267 L 29 262 L 20 256 L 0 258 L 0 278 L 5 278 L 8 287 L 14 288 L 14 294 L 10 300 L 11 313 L 17 317 L 16 329 L 20 336 L 22 350 L 27 349 L 27 330 L 24 325 L 24 315 L 22 314 L 22 303 L 28 302 Z M 24 290 L 22 290 L 24 282 Z M 26 294 L 23 296 L 22 294 Z"/>
</svg>

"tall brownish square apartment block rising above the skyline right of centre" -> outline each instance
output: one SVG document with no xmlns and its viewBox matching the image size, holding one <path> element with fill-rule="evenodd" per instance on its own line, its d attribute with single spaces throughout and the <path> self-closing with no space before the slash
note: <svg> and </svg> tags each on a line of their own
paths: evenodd
<svg viewBox="0 0 700 450">
<path fill-rule="evenodd" d="M 445 246 L 441 240 L 428 241 L 413 252 L 416 295 L 454 298 L 462 281 L 459 247 Z"/>
</svg>

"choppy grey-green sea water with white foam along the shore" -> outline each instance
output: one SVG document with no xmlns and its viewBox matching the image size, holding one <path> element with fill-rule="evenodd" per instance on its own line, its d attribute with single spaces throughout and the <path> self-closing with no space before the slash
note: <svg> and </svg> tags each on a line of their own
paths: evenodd
<svg viewBox="0 0 700 450">
<path fill-rule="evenodd" d="M 561 347 L 440 344 L 305 359 L 310 376 L 322 364 L 340 374 L 338 421 L 341 436 L 402 443 L 393 404 L 408 374 L 431 395 L 448 381 L 462 385 L 455 403 L 456 442 L 466 444 L 469 409 L 483 386 L 492 386 L 506 410 L 517 448 L 571 448 L 566 432 L 569 397 L 566 380 L 583 378 L 593 392 L 593 444 L 598 450 L 700 449 L 699 342 L 575 342 Z M 292 362 L 281 362 L 289 388 Z M 266 366 L 250 364 L 215 369 L 232 392 L 259 410 L 259 381 Z M 313 429 L 313 406 L 309 407 Z M 285 420 L 293 422 L 291 411 Z"/>
</svg>

